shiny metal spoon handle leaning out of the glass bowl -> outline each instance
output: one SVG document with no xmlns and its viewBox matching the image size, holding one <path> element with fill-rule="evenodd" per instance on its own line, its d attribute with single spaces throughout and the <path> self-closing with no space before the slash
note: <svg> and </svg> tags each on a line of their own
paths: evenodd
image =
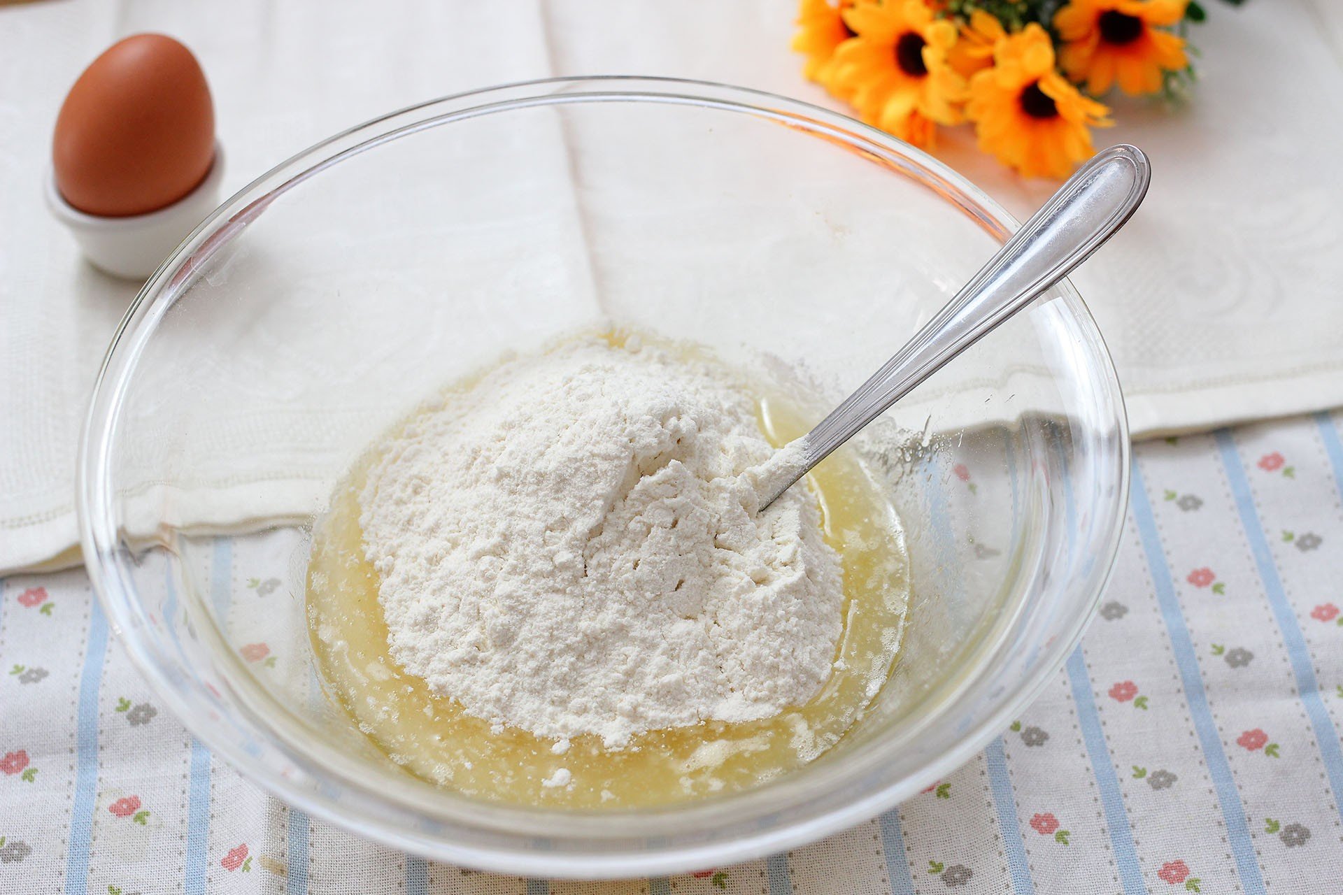
<svg viewBox="0 0 1343 895">
<path fill-rule="evenodd" d="M 1111 146 L 1082 165 L 894 357 L 759 470 L 759 491 L 768 495 L 760 510 L 947 361 L 1086 260 L 1132 217 L 1151 174 L 1143 150 L 1127 144 Z"/>
</svg>

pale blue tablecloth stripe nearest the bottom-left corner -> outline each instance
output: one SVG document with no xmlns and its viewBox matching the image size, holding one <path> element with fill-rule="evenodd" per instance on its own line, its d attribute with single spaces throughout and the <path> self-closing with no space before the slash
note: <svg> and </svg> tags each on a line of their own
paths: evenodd
<svg viewBox="0 0 1343 895">
<path fill-rule="evenodd" d="M 66 852 L 66 892 L 89 891 L 89 848 L 93 843 L 93 805 L 98 794 L 98 690 L 107 655 L 107 619 L 97 597 L 89 611 L 89 643 L 79 674 L 75 725 L 75 794 L 70 806 L 70 847 Z"/>
</svg>

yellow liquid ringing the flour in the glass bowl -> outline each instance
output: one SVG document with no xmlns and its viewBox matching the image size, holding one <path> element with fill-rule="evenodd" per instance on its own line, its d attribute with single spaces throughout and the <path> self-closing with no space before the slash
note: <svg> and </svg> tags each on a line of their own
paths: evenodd
<svg viewBox="0 0 1343 895">
<path fill-rule="evenodd" d="M 804 431 L 782 403 L 757 407 L 775 445 Z M 359 527 L 371 462 L 337 488 L 316 526 L 308 570 L 312 644 L 328 691 L 379 749 L 420 778 L 490 801 L 557 808 L 666 805 L 736 792 L 834 746 L 890 675 L 909 594 L 904 541 L 874 480 L 841 450 L 806 480 L 821 501 L 826 541 L 839 553 L 845 590 L 834 670 L 808 703 L 760 721 L 649 731 L 618 750 L 598 737 L 576 737 L 556 753 L 553 739 L 492 731 L 490 722 L 430 692 L 389 653 L 377 573 L 364 557 Z M 544 785 L 555 784 L 561 769 L 567 785 Z"/>
</svg>

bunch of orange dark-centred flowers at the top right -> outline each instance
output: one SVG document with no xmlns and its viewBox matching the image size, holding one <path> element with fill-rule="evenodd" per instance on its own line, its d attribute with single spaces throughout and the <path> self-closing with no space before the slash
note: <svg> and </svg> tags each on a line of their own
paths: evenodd
<svg viewBox="0 0 1343 895">
<path fill-rule="evenodd" d="M 1229 0 L 1240 3 L 1240 0 Z M 916 146 L 968 122 L 1027 177 L 1066 177 L 1111 123 L 1101 98 L 1183 93 L 1195 0 L 800 0 L 807 78 Z"/>
</svg>

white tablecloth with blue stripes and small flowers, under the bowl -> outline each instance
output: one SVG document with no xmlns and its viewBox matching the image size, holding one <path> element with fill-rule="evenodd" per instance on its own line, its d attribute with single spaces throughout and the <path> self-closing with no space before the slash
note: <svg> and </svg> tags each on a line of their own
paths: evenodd
<svg viewBox="0 0 1343 895">
<path fill-rule="evenodd" d="M 974 761 L 822 843 L 615 886 L 432 864 L 286 808 L 157 707 L 83 573 L 9 578 L 0 891 L 1343 891 L 1340 425 L 1139 445 L 1100 617 Z"/>
</svg>

